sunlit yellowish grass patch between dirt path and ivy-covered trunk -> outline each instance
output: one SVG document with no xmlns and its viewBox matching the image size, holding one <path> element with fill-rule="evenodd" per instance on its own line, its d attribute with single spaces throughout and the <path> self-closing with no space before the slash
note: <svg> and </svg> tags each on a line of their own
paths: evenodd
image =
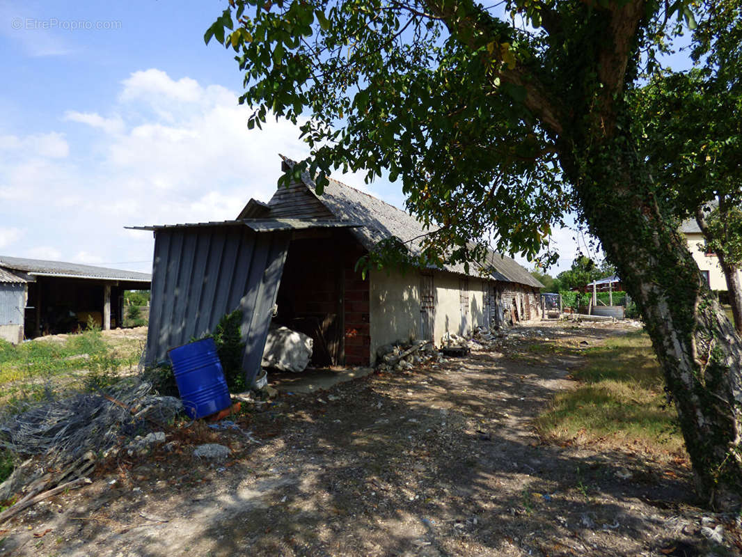
<svg viewBox="0 0 742 557">
<path fill-rule="evenodd" d="M 632 332 L 582 352 L 581 385 L 554 398 L 536 422 L 545 437 L 660 455 L 683 452 L 674 408 L 649 336 Z"/>
</svg>

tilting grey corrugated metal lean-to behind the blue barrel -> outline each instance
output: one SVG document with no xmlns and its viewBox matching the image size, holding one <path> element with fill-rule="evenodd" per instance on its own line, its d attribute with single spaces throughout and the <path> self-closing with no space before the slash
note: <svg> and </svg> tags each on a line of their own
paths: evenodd
<svg viewBox="0 0 742 557">
<path fill-rule="evenodd" d="M 239 308 L 243 370 L 252 382 L 293 231 L 347 226 L 263 220 L 143 227 L 155 237 L 145 363 L 161 362 L 170 348 L 213 332 L 222 316 Z"/>
</svg>

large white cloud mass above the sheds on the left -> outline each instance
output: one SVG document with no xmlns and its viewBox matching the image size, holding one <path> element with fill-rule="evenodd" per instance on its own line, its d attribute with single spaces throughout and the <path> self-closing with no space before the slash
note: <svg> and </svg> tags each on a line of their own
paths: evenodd
<svg viewBox="0 0 742 557">
<path fill-rule="evenodd" d="M 3 226 L 26 230 L 9 255 L 145 261 L 122 267 L 148 271 L 152 235 L 125 225 L 234 218 L 249 198 L 267 201 L 278 153 L 307 149 L 285 121 L 249 131 L 237 96 L 148 70 L 125 79 L 103 110 L 70 107 L 66 136 L 0 135 Z"/>
</svg>

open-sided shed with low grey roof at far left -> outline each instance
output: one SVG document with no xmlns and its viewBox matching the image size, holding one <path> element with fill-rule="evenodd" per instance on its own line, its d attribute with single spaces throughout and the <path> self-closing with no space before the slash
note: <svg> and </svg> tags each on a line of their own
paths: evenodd
<svg viewBox="0 0 742 557">
<path fill-rule="evenodd" d="M 69 333 L 88 319 L 104 330 L 121 326 L 124 290 L 148 290 L 150 280 L 147 273 L 0 255 L 0 338 Z"/>
</svg>

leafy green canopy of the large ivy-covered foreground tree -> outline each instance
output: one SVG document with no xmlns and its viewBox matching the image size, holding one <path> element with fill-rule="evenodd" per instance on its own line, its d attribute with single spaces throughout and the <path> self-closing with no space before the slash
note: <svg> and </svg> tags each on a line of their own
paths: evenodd
<svg viewBox="0 0 742 557">
<path fill-rule="evenodd" d="M 573 208 L 557 141 L 533 103 L 553 102 L 555 117 L 583 125 L 577 114 L 602 94 L 594 60 L 612 4 L 509 2 L 548 33 L 466 2 L 435 7 L 436 18 L 382 0 L 232 5 L 204 39 L 237 52 L 250 129 L 268 114 L 301 125 L 299 163 L 317 192 L 335 171 L 401 181 L 407 209 L 445 231 L 426 249 L 453 257 L 487 241 L 535 257 Z"/>
</svg>

